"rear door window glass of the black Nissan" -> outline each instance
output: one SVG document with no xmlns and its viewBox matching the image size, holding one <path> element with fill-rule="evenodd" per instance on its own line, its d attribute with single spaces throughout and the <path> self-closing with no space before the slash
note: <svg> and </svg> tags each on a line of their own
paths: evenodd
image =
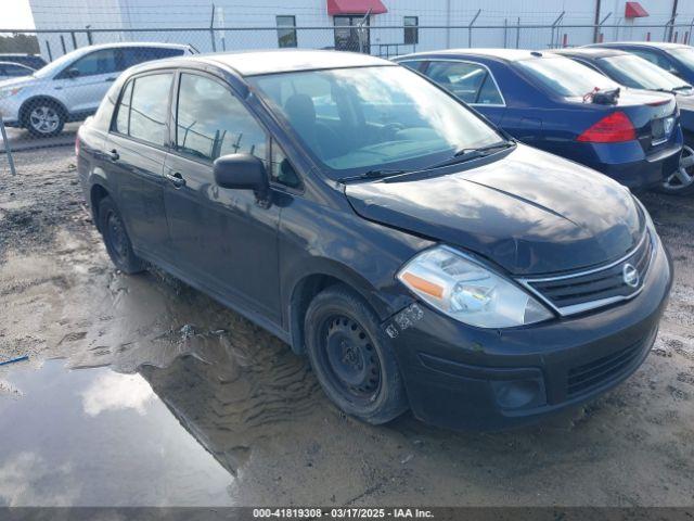
<svg viewBox="0 0 694 521">
<path fill-rule="evenodd" d="M 171 77 L 170 73 L 166 73 L 140 76 L 131 80 L 118 106 L 116 131 L 147 143 L 164 145 Z"/>
</svg>

